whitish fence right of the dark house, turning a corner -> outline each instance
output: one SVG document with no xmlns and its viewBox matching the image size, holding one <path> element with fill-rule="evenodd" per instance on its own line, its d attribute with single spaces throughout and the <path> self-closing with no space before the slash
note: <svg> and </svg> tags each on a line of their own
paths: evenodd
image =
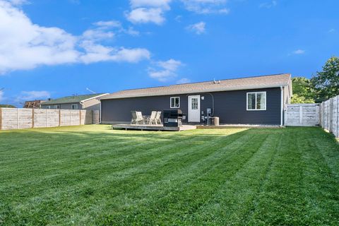
<svg viewBox="0 0 339 226">
<path fill-rule="evenodd" d="M 321 104 L 287 105 L 286 126 L 321 126 L 339 137 L 339 95 Z"/>
</svg>

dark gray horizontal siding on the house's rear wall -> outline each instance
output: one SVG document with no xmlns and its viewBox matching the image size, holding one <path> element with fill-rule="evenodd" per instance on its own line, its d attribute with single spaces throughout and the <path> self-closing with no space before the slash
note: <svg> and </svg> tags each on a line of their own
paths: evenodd
<svg viewBox="0 0 339 226">
<path fill-rule="evenodd" d="M 266 111 L 247 111 L 246 93 L 258 91 L 266 91 Z M 201 95 L 201 97 L 204 97 L 204 100 L 201 100 L 201 113 L 203 114 L 206 114 L 207 108 L 213 108 L 214 99 L 214 116 L 220 117 L 220 124 L 280 124 L 280 88 L 234 90 L 189 95 Z M 153 110 L 162 111 L 170 109 L 169 98 L 174 96 L 180 97 L 180 109 L 182 109 L 184 114 L 187 114 L 189 95 L 102 100 L 102 123 L 128 122 L 131 120 L 132 110 L 141 111 L 144 115 L 149 115 Z"/>
</svg>

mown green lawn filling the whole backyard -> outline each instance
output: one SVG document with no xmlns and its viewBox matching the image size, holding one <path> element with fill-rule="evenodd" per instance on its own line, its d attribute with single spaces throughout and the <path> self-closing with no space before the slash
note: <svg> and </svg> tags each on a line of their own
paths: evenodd
<svg viewBox="0 0 339 226">
<path fill-rule="evenodd" d="M 0 132 L 0 225 L 339 225 L 319 128 Z"/>
</svg>

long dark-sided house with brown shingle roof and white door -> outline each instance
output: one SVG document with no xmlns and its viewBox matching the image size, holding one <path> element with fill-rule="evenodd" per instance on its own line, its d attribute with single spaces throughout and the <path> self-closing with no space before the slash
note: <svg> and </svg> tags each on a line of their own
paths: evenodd
<svg viewBox="0 0 339 226">
<path fill-rule="evenodd" d="M 182 109 L 184 123 L 201 124 L 211 109 L 220 124 L 283 125 L 292 97 L 290 74 L 122 90 L 100 97 L 102 124 L 126 124 L 131 111 Z"/>
</svg>

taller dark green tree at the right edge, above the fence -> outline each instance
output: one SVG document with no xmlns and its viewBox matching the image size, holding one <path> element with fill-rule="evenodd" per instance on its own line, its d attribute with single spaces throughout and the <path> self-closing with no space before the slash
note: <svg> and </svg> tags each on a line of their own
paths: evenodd
<svg viewBox="0 0 339 226">
<path fill-rule="evenodd" d="M 316 102 L 328 100 L 339 95 L 339 58 L 331 57 L 323 66 L 323 71 L 317 72 L 311 78 L 315 91 Z"/>
</svg>

